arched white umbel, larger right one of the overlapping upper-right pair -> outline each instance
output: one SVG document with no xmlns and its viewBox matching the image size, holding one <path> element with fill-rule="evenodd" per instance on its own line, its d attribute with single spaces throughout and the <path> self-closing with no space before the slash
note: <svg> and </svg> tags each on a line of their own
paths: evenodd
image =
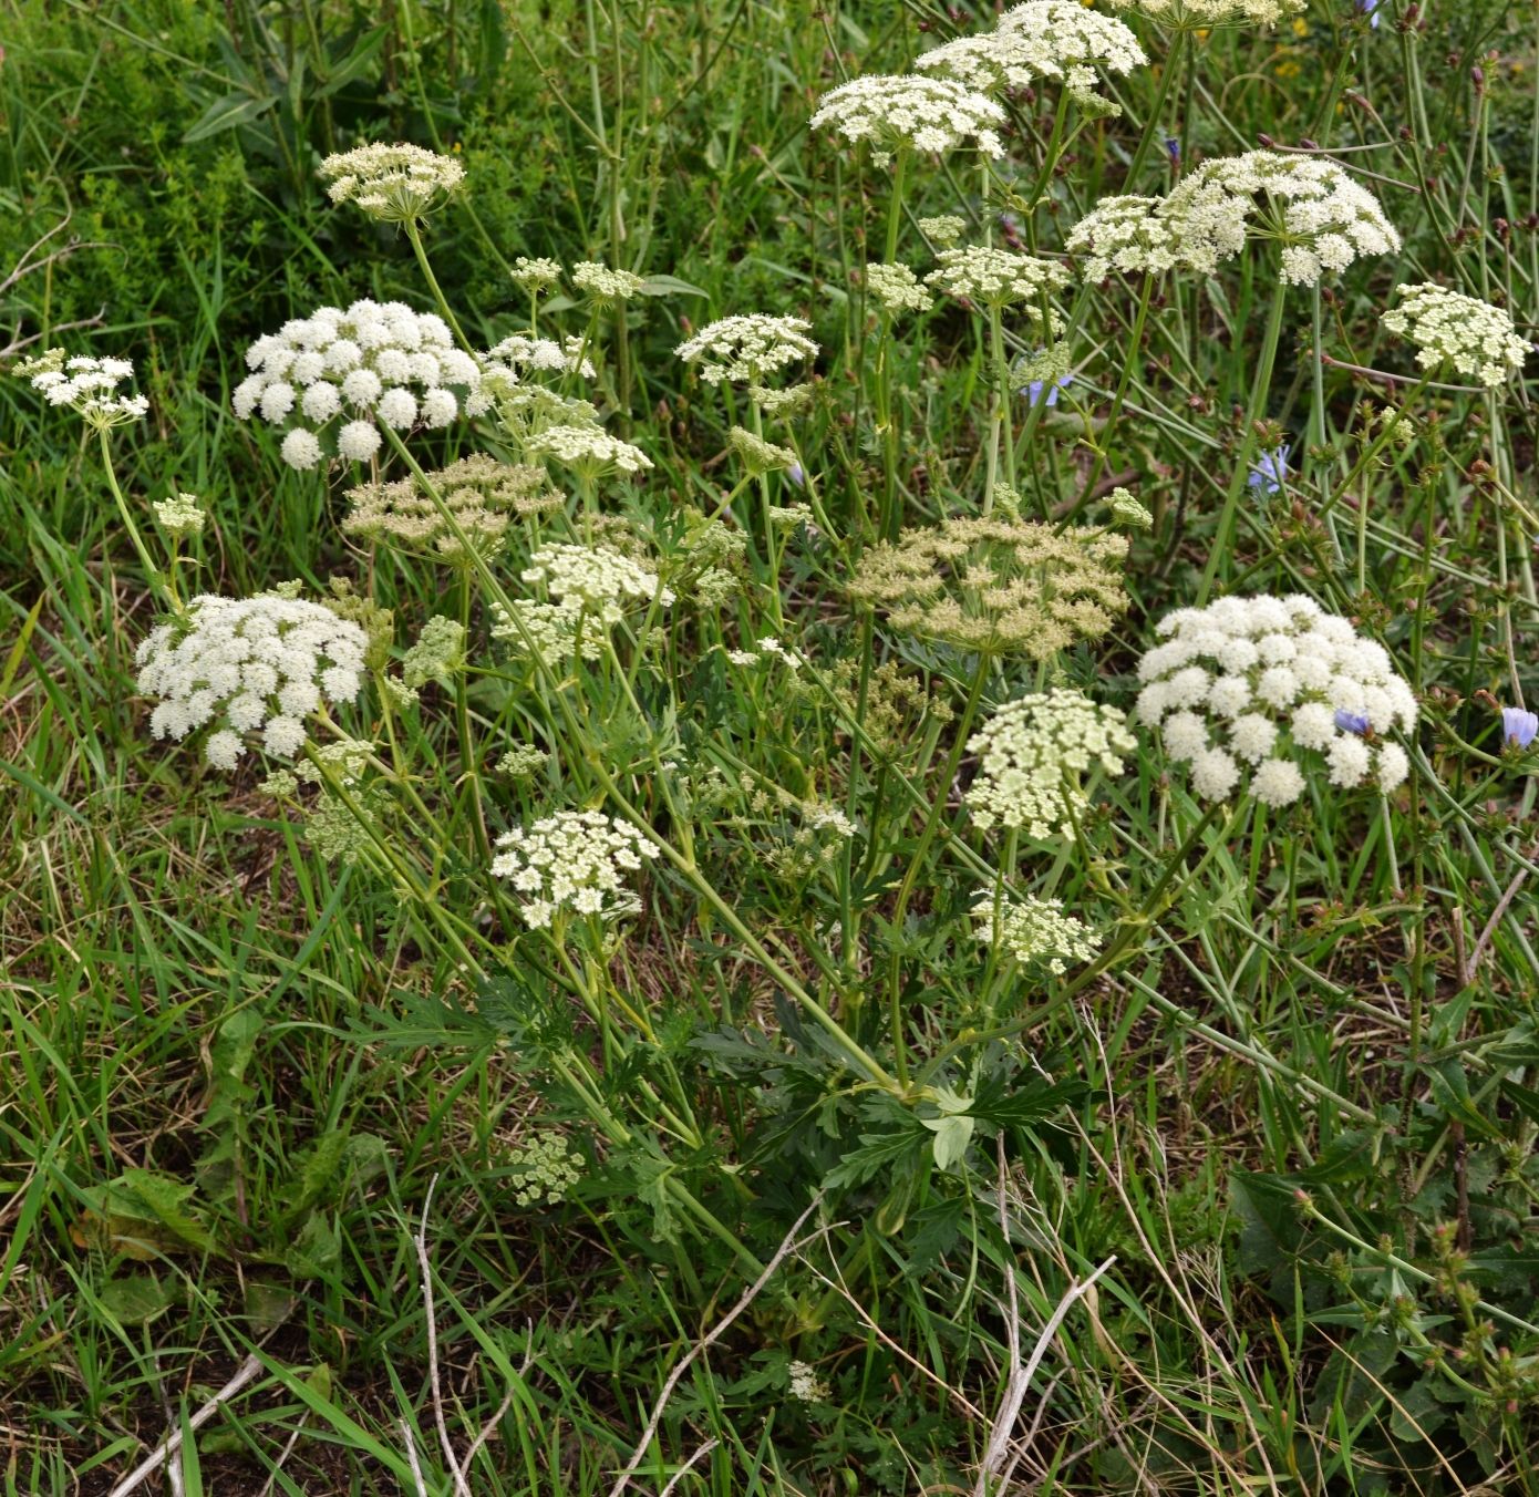
<svg viewBox="0 0 1539 1497">
<path fill-rule="evenodd" d="M 1379 200 L 1336 162 L 1248 151 L 1203 162 L 1157 209 L 1176 220 L 1182 258 L 1211 275 L 1248 237 L 1282 246 L 1282 278 L 1314 286 L 1360 255 L 1393 254 L 1400 235 Z"/>
</svg>

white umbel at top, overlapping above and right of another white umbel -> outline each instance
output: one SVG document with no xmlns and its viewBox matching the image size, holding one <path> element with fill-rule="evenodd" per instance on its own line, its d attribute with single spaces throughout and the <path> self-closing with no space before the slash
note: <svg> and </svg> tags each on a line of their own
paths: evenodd
<svg viewBox="0 0 1539 1497">
<path fill-rule="evenodd" d="M 1088 11 L 1080 0 L 1025 0 L 993 31 L 946 42 L 914 66 L 980 94 L 1027 89 L 1048 78 L 1088 97 L 1105 74 L 1147 62 L 1139 38 L 1116 17 Z"/>
</svg>

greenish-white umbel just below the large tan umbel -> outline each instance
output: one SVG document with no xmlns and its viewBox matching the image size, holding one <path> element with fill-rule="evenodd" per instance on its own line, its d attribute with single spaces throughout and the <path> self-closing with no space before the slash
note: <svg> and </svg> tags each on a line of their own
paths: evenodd
<svg viewBox="0 0 1539 1497">
<path fill-rule="evenodd" d="M 1019 828 L 1045 842 L 1073 839 L 1090 805 L 1082 777 L 1093 768 L 1120 775 L 1122 755 L 1137 740 L 1114 708 L 1054 688 L 1007 702 L 966 746 L 980 755 L 966 792 L 974 825 Z"/>
</svg>

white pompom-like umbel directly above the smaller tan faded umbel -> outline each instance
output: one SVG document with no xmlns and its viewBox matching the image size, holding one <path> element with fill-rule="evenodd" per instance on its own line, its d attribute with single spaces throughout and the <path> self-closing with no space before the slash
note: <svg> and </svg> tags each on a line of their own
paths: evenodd
<svg viewBox="0 0 1539 1497">
<path fill-rule="evenodd" d="M 480 385 L 476 360 L 454 346 L 443 318 L 403 302 L 323 306 L 257 338 L 246 365 L 235 415 L 289 426 L 283 460 L 302 469 L 325 455 L 317 432 L 334 420 L 337 455 L 368 462 L 382 443 L 376 422 L 446 426 L 460 412 L 456 389 Z"/>
</svg>

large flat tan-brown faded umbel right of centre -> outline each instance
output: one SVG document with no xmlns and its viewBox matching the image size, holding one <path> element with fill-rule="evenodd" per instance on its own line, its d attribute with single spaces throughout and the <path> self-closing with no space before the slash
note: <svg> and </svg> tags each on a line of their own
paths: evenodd
<svg viewBox="0 0 1539 1497">
<path fill-rule="evenodd" d="M 1127 555 L 1127 537 L 1108 531 L 953 518 L 871 546 L 850 592 L 906 634 L 1045 660 L 1100 638 L 1128 606 Z"/>
</svg>

